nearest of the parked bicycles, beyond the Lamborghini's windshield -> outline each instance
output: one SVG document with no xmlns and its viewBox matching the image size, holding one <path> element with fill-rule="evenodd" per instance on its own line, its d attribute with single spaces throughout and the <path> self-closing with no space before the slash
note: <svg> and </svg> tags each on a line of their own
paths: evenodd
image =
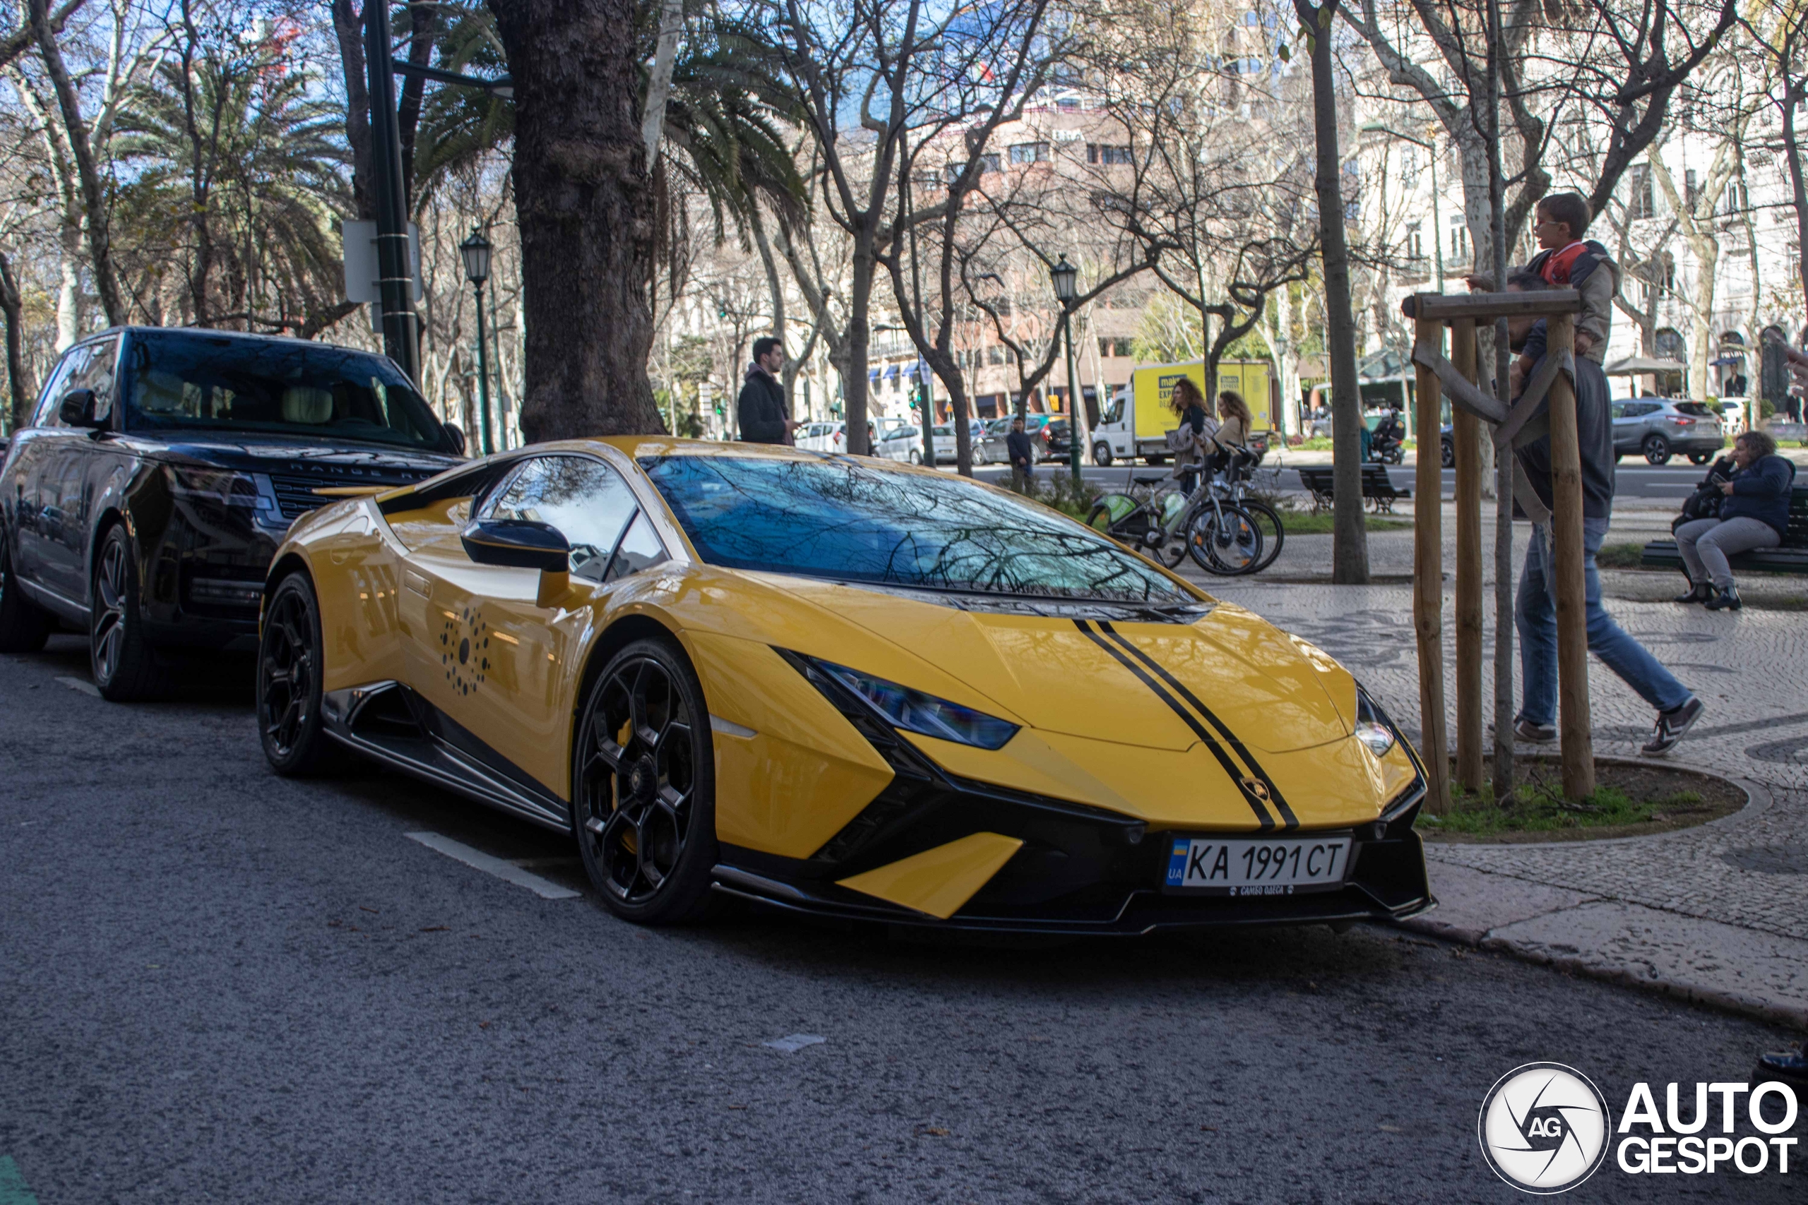
<svg viewBox="0 0 1808 1205">
<path fill-rule="evenodd" d="M 1210 481 L 1191 495 L 1159 490 L 1164 482 L 1172 484 L 1173 477 L 1132 477 L 1128 493 L 1106 493 L 1094 502 L 1087 526 L 1168 569 L 1191 555 L 1201 569 L 1217 576 L 1251 573 L 1262 558 L 1257 520 L 1219 497 Z"/>
</svg>

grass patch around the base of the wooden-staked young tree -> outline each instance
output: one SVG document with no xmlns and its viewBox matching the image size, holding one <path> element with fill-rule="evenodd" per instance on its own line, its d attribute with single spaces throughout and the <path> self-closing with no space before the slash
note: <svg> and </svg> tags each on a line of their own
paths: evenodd
<svg viewBox="0 0 1808 1205">
<path fill-rule="evenodd" d="M 1596 762 L 1595 793 L 1582 802 L 1564 799 L 1553 762 L 1521 757 L 1515 777 L 1499 802 L 1486 782 L 1474 793 L 1452 782 L 1450 811 L 1419 824 L 1446 840 L 1577 840 L 1690 827 L 1745 806 L 1732 784 L 1663 768 Z"/>
</svg>

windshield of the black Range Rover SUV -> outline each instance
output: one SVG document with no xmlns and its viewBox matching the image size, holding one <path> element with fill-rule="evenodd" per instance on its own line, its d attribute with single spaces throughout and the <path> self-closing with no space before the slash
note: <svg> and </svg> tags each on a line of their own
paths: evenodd
<svg viewBox="0 0 1808 1205">
<path fill-rule="evenodd" d="M 367 352 L 300 340 L 134 331 L 130 430 L 228 430 L 450 452 L 401 372 Z"/>
</svg>

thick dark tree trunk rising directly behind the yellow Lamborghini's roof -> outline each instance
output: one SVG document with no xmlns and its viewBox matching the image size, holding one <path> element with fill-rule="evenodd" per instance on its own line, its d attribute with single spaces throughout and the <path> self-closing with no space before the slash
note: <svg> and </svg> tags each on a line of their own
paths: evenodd
<svg viewBox="0 0 1808 1205">
<path fill-rule="evenodd" d="M 647 350 L 653 190 L 627 0 L 490 0 L 515 81 L 530 441 L 664 430 Z"/>
</svg>

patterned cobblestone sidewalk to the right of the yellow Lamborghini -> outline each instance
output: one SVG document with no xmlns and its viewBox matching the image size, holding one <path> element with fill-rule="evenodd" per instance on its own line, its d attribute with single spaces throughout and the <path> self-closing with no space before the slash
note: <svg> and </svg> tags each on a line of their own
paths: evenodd
<svg viewBox="0 0 1808 1205">
<path fill-rule="evenodd" d="M 1322 645 L 1416 733 L 1408 585 L 1197 580 Z M 1441 907 L 1423 927 L 1808 1028 L 1808 616 L 1627 598 L 1609 598 L 1609 611 L 1707 703 L 1671 761 L 1752 784 L 1754 804 L 1649 838 L 1428 842 Z M 1454 631 L 1446 584 L 1446 683 Z M 1492 650 L 1492 618 L 1484 641 Z M 1483 692 L 1492 701 L 1492 679 Z M 1649 706 L 1598 661 L 1589 692 L 1596 753 L 1636 755 L 1651 732 Z M 1454 724 L 1454 697 L 1448 706 Z"/>
</svg>

